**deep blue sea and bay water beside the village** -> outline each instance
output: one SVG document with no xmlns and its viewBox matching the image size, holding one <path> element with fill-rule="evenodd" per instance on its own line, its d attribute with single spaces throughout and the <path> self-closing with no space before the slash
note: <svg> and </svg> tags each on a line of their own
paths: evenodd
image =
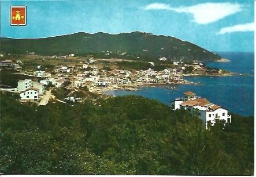
<svg viewBox="0 0 256 177">
<path fill-rule="evenodd" d="M 184 79 L 200 84 L 176 84 L 173 86 L 140 87 L 138 91 L 110 90 L 105 94 L 141 95 L 170 106 L 176 97 L 192 91 L 210 102 L 241 116 L 254 116 L 254 52 L 216 52 L 231 62 L 207 63 L 206 66 L 222 68 L 238 73 L 234 76 L 186 76 Z M 243 75 L 239 75 L 243 74 Z"/>
</svg>

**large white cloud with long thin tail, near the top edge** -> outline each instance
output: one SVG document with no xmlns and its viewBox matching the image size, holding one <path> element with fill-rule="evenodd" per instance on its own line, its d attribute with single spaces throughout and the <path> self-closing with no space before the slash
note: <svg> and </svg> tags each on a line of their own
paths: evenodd
<svg viewBox="0 0 256 177">
<path fill-rule="evenodd" d="M 177 13 L 192 14 L 194 21 L 198 24 L 209 24 L 238 13 L 242 10 L 239 3 L 199 3 L 194 6 L 171 7 L 164 3 L 151 3 L 144 10 L 172 10 Z"/>
</svg>

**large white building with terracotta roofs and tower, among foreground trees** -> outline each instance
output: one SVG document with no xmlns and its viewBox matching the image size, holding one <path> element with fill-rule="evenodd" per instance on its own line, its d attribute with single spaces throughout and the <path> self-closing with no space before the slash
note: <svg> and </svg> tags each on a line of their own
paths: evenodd
<svg viewBox="0 0 256 177">
<path fill-rule="evenodd" d="M 176 98 L 171 102 L 172 109 L 184 109 L 190 111 L 191 114 L 198 115 L 206 129 L 209 123 L 214 125 L 216 121 L 231 122 L 231 115 L 228 115 L 227 109 L 210 103 L 206 98 L 196 97 L 196 94 L 191 91 L 187 91 L 183 95 L 183 98 Z"/>
</svg>

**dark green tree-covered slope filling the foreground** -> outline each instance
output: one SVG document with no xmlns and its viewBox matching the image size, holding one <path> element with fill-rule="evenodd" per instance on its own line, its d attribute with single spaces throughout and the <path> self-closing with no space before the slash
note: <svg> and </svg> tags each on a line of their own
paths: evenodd
<svg viewBox="0 0 256 177">
<path fill-rule="evenodd" d="M 36 106 L 1 94 L 0 135 L 3 174 L 254 174 L 253 117 L 206 130 L 143 97 Z"/>
</svg>

